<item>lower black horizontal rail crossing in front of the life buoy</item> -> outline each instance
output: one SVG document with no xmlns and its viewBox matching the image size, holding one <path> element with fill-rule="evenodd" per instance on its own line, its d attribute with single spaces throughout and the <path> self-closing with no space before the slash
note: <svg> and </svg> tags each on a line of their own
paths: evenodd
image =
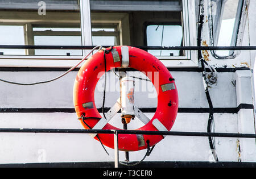
<svg viewBox="0 0 256 179">
<path fill-rule="evenodd" d="M 171 136 L 202 136 L 220 138 L 255 138 L 256 134 L 217 133 L 217 132 L 178 132 L 178 131 L 139 131 L 139 130 L 85 130 L 54 128 L 0 128 L 0 132 L 24 133 L 75 133 L 75 134 L 144 134 Z"/>
</svg>

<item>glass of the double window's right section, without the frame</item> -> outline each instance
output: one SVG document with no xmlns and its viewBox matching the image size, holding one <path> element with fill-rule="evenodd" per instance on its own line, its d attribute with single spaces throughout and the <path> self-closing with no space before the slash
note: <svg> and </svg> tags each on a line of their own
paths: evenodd
<svg viewBox="0 0 256 179">
<path fill-rule="evenodd" d="M 90 10 L 94 45 L 183 45 L 181 0 L 91 0 Z M 117 22 L 116 27 L 110 27 Z M 148 52 L 183 56 L 183 51 Z"/>
</svg>

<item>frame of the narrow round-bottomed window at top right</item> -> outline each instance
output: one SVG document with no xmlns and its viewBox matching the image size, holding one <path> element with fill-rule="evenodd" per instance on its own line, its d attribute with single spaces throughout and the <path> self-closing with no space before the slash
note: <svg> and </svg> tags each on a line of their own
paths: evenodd
<svg viewBox="0 0 256 179">
<path fill-rule="evenodd" d="M 234 41 L 234 46 L 241 46 L 242 45 L 242 40 L 243 40 L 243 31 L 245 30 L 245 24 L 246 24 L 246 8 L 247 8 L 247 0 L 241 0 L 238 1 L 238 7 L 241 9 L 240 14 L 236 14 L 236 22 L 234 26 L 236 27 L 236 32 L 237 34 L 232 34 L 232 41 Z M 240 4 L 242 2 L 242 4 Z M 211 46 L 216 46 L 214 45 L 214 34 L 213 34 L 213 16 L 212 16 L 212 0 L 208 0 L 209 8 L 208 8 L 208 15 L 209 15 L 209 41 Z M 222 7 L 224 8 L 224 7 Z M 222 11 L 222 9 L 220 10 Z M 240 16 L 240 20 L 238 20 L 237 16 Z M 221 18 L 221 15 L 218 15 Z M 237 22 L 238 20 L 238 22 Z M 237 24 L 236 24 L 237 23 Z M 218 26 L 218 31 L 220 30 L 221 26 Z M 234 31 L 233 31 L 234 32 Z M 219 33 L 219 32 L 218 32 Z M 230 51 L 232 52 L 228 56 L 219 56 L 216 54 L 215 51 L 210 51 L 214 59 L 217 60 L 226 60 L 226 59 L 234 59 L 238 55 L 240 55 L 241 51 Z"/>
</svg>

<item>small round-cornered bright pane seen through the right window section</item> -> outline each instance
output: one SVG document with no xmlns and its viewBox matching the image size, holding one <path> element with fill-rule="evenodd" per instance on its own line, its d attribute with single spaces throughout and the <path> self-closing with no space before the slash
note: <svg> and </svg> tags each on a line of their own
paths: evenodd
<svg viewBox="0 0 256 179">
<path fill-rule="evenodd" d="M 148 46 L 180 46 L 182 44 L 182 27 L 171 25 L 147 26 Z M 180 56 L 180 51 L 148 51 L 154 56 Z"/>
</svg>

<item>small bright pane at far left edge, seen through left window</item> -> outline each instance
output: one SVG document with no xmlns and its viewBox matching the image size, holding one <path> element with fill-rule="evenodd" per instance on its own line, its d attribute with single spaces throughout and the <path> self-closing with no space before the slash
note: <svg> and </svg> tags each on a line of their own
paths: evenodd
<svg viewBox="0 0 256 179">
<path fill-rule="evenodd" d="M 1 45 L 24 45 L 24 26 L 0 26 Z M 25 55 L 24 49 L 0 49 L 1 55 Z"/>
</svg>

